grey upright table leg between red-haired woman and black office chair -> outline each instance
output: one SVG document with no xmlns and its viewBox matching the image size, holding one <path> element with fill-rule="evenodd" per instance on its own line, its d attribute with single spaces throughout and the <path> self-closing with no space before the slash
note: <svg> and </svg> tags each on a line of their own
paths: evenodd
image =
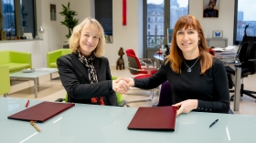
<svg viewBox="0 0 256 143">
<path fill-rule="evenodd" d="M 235 84 L 235 99 L 234 99 L 234 111 L 240 110 L 240 72 L 239 66 L 236 66 L 236 84 Z"/>
</svg>

